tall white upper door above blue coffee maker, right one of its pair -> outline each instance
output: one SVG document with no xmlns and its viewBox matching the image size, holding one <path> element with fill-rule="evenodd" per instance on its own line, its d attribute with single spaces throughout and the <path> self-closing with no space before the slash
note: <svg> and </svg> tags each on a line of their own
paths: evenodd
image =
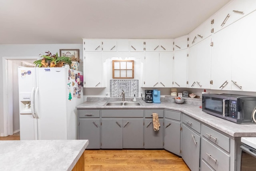
<svg viewBox="0 0 256 171">
<path fill-rule="evenodd" d="M 172 87 L 173 53 L 159 54 L 159 84 L 158 87 Z"/>
</svg>

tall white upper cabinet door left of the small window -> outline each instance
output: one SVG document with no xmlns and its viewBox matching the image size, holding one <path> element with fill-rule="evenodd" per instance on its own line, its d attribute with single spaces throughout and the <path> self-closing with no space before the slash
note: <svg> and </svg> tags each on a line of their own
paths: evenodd
<svg viewBox="0 0 256 171">
<path fill-rule="evenodd" d="M 103 87 L 101 53 L 84 54 L 84 87 Z"/>
</svg>

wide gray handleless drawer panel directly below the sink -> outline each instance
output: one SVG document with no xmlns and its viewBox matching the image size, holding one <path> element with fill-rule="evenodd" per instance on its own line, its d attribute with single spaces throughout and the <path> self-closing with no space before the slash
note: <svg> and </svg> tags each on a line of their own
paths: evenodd
<svg viewBox="0 0 256 171">
<path fill-rule="evenodd" d="M 102 110 L 102 117 L 143 117 L 143 110 Z"/>
</svg>

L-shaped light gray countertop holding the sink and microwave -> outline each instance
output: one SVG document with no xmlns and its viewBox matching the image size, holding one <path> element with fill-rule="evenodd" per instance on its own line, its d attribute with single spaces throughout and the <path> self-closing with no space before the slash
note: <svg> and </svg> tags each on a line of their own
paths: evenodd
<svg viewBox="0 0 256 171">
<path fill-rule="evenodd" d="M 128 99 L 128 98 L 126 98 Z M 170 109 L 181 111 L 208 126 L 216 128 L 231 137 L 256 137 L 256 124 L 238 124 L 208 113 L 205 113 L 200 108 L 202 99 L 187 100 L 183 104 L 176 104 L 173 97 L 161 97 L 161 103 L 142 103 L 141 106 L 105 106 L 107 101 L 119 100 L 113 97 L 88 97 L 87 101 L 78 105 L 77 109 Z M 122 100 L 122 99 L 121 99 Z M 130 98 L 129 98 L 130 100 Z M 137 101 L 139 98 L 137 98 Z"/>
</svg>

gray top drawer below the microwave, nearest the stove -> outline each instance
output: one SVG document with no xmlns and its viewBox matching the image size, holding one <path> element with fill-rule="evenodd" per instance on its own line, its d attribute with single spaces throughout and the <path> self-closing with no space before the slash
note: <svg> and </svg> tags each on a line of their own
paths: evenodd
<svg viewBox="0 0 256 171">
<path fill-rule="evenodd" d="M 212 143 L 222 147 L 224 150 L 230 152 L 230 138 L 203 125 L 202 126 L 202 135 L 212 141 Z"/>
</svg>

